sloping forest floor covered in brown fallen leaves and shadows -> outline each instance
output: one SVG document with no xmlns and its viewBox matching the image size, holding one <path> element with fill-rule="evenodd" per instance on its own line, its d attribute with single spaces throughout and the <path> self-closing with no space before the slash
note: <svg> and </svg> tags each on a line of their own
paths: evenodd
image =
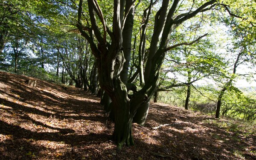
<svg viewBox="0 0 256 160">
<path fill-rule="evenodd" d="M 27 79 L 0 72 L 1 160 L 256 160 L 256 126 L 162 103 L 151 103 L 144 127 L 133 125 L 135 146 L 116 151 L 99 98 Z"/>
</svg>

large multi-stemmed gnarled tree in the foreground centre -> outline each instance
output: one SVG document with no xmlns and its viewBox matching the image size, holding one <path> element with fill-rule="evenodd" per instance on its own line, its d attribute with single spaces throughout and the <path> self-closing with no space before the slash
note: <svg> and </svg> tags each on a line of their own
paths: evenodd
<svg viewBox="0 0 256 160">
<path fill-rule="evenodd" d="M 96 0 L 87 0 L 86 5 L 83 0 L 79 0 L 77 27 L 81 35 L 89 42 L 93 55 L 96 57 L 99 84 L 111 97 L 111 112 L 114 115 L 115 122 L 113 139 L 116 141 L 118 149 L 122 148 L 124 144 L 128 146 L 134 145 L 131 134 L 133 121 L 141 125 L 145 123 L 149 100 L 159 83 L 159 72 L 166 51 L 172 49 L 172 47 L 168 47 L 171 33 L 184 21 L 194 17 L 199 12 L 204 12 L 214 7 L 215 2 L 216 0 L 207 1 L 198 8 L 186 9 L 187 12 L 178 15 L 179 6 L 182 3 L 179 4 L 179 0 L 174 0 L 171 4 L 170 0 L 163 0 L 160 9 L 155 15 L 154 31 L 145 62 L 145 84 L 140 90 L 134 90 L 131 98 L 128 98 L 129 89 L 120 78 L 120 73 L 123 70 L 125 61 L 129 62 L 130 56 L 124 55 L 124 40 L 130 39 L 132 32 L 124 33 L 124 29 L 130 25 L 128 22 L 134 21 L 131 19 L 132 16 L 128 17 L 128 15 L 133 14 L 135 1 L 114 0 L 113 18 L 109 22 L 105 19 L 100 4 Z M 152 4 L 153 1 L 151 0 L 148 6 L 148 13 L 152 9 Z M 85 13 L 83 7 L 87 6 L 90 23 L 86 22 L 86 17 L 83 16 L 83 13 Z M 112 30 L 107 23 L 112 24 Z M 94 36 L 97 44 L 95 44 Z M 129 42 L 127 43 L 129 44 Z M 131 44 L 128 47 L 131 47 Z M 130 54 L 130 52 L 127 53 Z M 128 74 L 124 77 L 128 77 Z"/>
</svg>

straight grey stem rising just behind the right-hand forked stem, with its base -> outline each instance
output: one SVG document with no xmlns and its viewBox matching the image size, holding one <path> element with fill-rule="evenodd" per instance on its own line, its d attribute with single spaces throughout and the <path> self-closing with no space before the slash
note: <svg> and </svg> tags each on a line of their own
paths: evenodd
<svg viewBox="0 0 256 160">
<path fill-rule="evenodd" d="M 163 0 L 161 8 L 155 15 L 154 32 L 151 38 L 151 44 L 149 48 L 149 54 L 148 54 L 148 59 L 145 66 L 145 73 L 144 73 L 145 86 L 142 89 L 145 91 L 148 90 L 147 91 L 148 99 L 138 108 L 137 113 L 134 116 L 134 122 L 136 122 L 139 125 L 145 124 L 145 120 L 149 110 L 150 98 L 154 94 L 154 91 L 156 90 L 159 83 L 158 81 L 159 71 L 165 55 L 164 53 L 163 53 L 163 56 L 162 56 L 162 53 L 158 54 L 158 57 L 156 57 L 155 55 L 158 51 L 158 45 L 160 43 L 160 38 L 162 36 L 162 32 L 164 30 L 164 26 L 166 23 L 169 3 L 170 3 L 170 0 Z M 169 32 L 164 34 L 169 34 Z M 166 41 L 166 40 L 162 38 L 162 41 Z"/>
</svg>

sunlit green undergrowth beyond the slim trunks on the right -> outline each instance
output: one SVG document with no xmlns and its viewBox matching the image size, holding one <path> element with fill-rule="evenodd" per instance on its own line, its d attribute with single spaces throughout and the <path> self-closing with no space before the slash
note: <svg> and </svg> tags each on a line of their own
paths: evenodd
<svg viewBox="0 0 256 160">
<path fill-rule="evenodd" d="M 199 90 L 199 92 L 198 92 Z M 256 122 L 256 87 L 241 87 L 239 94 L 235 91 L 226 93 L 221 107 L 222 117 L 232 117 L 235 119 L 244 119 L 249 122 Z M 198 87 L 192 89 L 189 109 L 201 111 L 206 114 L 214 115 L 216 110 L 217 99 L 215 88 Z M 203 93 L 203 95 L 201 94 Z M 184 87 L 175 88 L 173 91 L 160 92 L 158 102 L 184 108 L 186 92 Z"/>
</svg>

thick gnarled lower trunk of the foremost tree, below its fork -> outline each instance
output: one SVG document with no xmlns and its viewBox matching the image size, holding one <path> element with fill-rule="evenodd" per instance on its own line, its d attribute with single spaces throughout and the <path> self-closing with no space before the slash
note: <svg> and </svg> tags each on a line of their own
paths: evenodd
<svg viewBox="0 0 256 160">
<path fill-rule="evenodd" d="M 114 50 L 113 52 L 116 51 Z M 110 54 L 113 53 L 108 53 L 108 55 Z M 131 135 L 134 111 L 131 111 L 126 86 L 120 79 L 120 72 L 125 61 L 124 55 L 122 51 L 119 51 L 115 55 L 114 60 L 108 61 L 110 57 L 102 58 L 97 64 L 99 70 L 102 71 L 99 72 L 101 87 L 105 90 L 105 94 L 108 93 L 111 97 L 111 115 L 115 123 L 113 140 L 116 142 L 117 149 L 119 150 L 124 144 L 128 146 L 134 145 L 134 140 Z M 109 77 L 109 73 L 111 73 L 112 70 L 114 72 Z"/>
</svg>

